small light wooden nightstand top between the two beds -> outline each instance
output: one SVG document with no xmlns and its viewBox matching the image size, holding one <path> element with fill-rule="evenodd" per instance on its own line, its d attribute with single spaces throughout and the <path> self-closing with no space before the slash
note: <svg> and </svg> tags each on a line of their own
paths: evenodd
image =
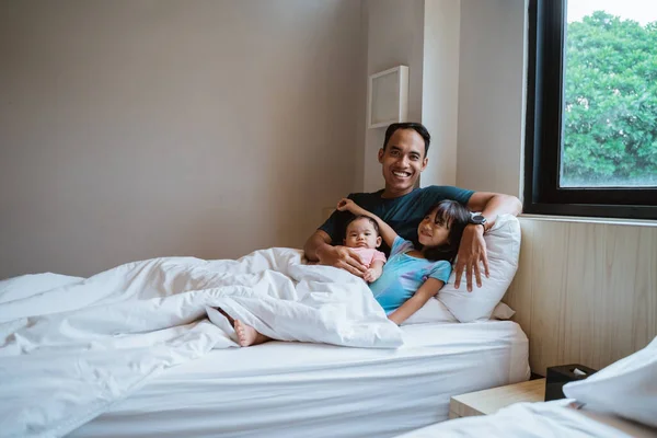
<svg viewBox="0 0 657 438">
<path fill-rule="evenodd" d="M 449 418 L 489 415 L 503 407 L 520 402 L 545 400 L 545 379 L 508 384 L 491 390 L 454 395 L 449 402 Z"/>
</svg>

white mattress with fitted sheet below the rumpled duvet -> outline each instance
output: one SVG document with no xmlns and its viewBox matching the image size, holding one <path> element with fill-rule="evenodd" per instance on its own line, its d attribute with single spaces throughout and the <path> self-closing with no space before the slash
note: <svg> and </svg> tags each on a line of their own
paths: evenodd
<svg viewBox="0 0 657 438">
<path fill-rule="evenodd" d="M 166 370 L 74 437 L 389 437 L 456 394 L 529 378 L 510 321 L 403 327 L 396 350 L 272 342 Z"/>
</svg>

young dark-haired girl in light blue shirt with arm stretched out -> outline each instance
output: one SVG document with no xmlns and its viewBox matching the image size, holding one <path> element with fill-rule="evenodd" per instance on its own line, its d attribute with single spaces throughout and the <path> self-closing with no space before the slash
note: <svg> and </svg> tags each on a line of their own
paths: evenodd
<svg viewBox="0 0 657 438">
<path fill-rule="evenodd" d="M 373 218 L 383 241 L 391 247 L 383 274 L 370 289 L 388 318 L 396 324 L 420 309 L 447 283 L 470 218 L 468 209 L 457 201 L 438 203 L 417 227 L 422 245 L 417 250 L 411 241 L 400 238 L 388 223 L 351 199 L 342 199 L 337 209 Z"/>
</svg>

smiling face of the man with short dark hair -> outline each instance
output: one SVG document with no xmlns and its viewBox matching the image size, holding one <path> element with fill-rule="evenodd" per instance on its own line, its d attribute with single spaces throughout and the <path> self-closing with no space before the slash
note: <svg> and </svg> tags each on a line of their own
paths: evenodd
<svg viewBox="0 0 657 438">
<path fill-rule="evenodd" d="M 384 196 L 397 197 L 413 191 L 419 173 L 427 166 L 424 139 L 414 129 L 397 129 L 379 150 L 385 178 Z"/>
</svg>

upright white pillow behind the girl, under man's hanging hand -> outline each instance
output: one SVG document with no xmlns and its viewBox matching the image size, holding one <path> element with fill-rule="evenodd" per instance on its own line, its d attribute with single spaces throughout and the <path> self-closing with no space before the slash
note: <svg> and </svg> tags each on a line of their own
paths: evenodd
<svg viewBox="0 0 657 438">
<path fill-rule="evenodd" d="M 499 216 L 495 226 L 484 235 L 484 240 L 486 241 L 491 277 L 482 277 L 481 288 L 473 279 L 472 292 L 469 292 L 465 272 L 463 272 L 459 289 L 454 288 L 457 275 L 452 272 L 447 285 L 438 292 L 438 300 L 460 322 L 489 319 L 518 269 L 520 255 L 520 222 L 518 218 L 512 215 Z"/>
</svg>

